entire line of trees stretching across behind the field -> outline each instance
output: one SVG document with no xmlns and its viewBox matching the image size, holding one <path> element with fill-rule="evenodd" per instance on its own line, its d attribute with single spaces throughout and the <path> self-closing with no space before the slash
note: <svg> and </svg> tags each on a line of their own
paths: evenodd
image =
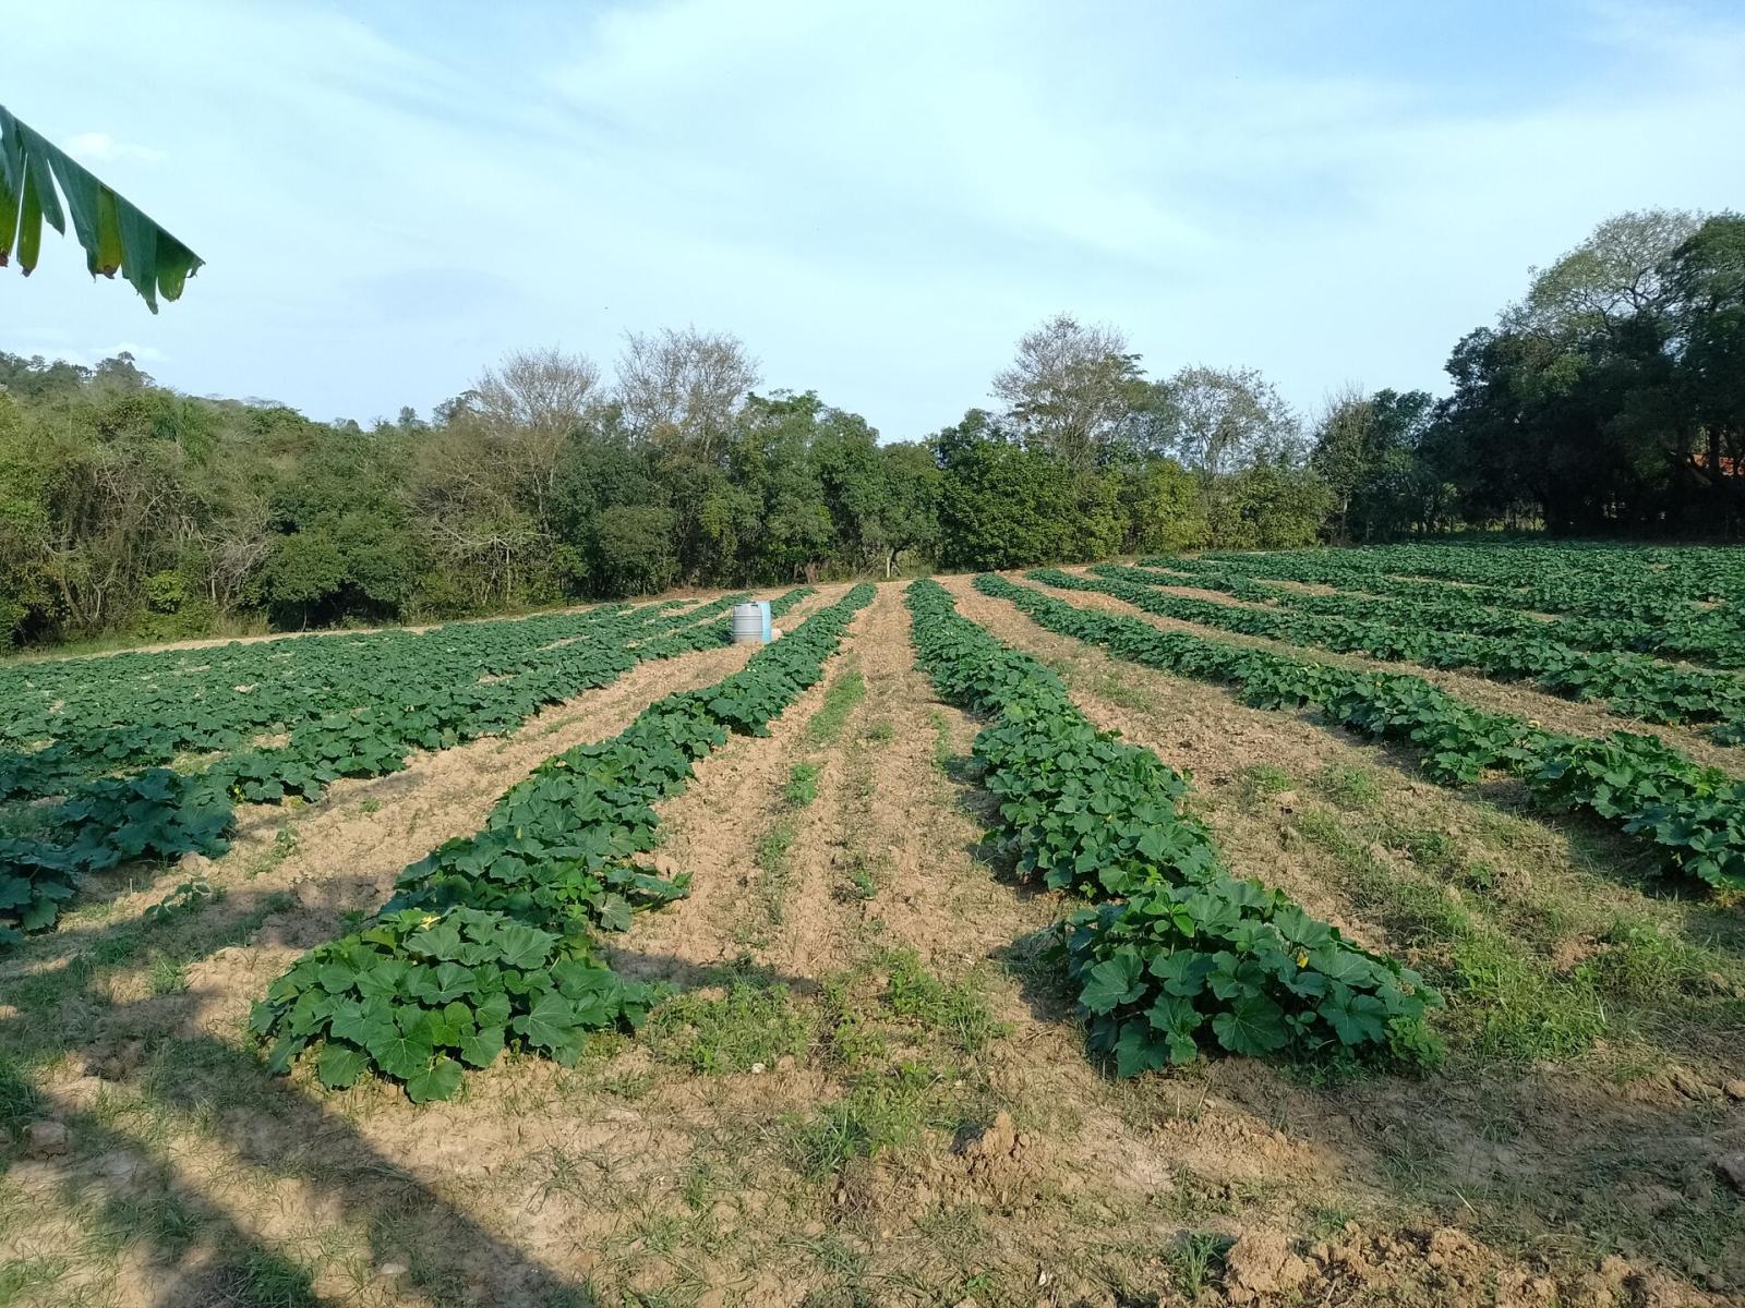
<svg viewBox="0 0 1745 1308">
<path fill-rule="evenodd" d="M 1464 527 L 1728 534 L 1745 218 L 1602 223 L 1448 373 L 1304 419 L 1253 370 L 1150 377 L 1061 314 L 988 406 L 881 441 L 696 330 L 632 333 L 609 373 L 511 354 L 370 427 L 0 352 L 0 647 Z"/>
</svg>

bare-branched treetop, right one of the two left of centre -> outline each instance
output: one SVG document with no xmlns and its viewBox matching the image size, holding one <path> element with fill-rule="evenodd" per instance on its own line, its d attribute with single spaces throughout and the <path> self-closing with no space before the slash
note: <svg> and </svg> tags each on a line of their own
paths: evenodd
<svg viewBox="0 0 1745 1308">
<path fill-rule="evenodd" d="M 757 382 L 757 361 L 738 337 L 663 328 L 625 337 L 616 394 L 632 434 L 707 464 Z"/>
</svg>

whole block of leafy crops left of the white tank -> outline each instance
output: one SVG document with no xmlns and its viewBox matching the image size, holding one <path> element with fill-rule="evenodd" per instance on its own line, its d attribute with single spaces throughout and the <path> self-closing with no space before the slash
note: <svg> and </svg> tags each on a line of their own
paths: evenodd
<svg viewBox="0 0 1745 1308">
<path fill-rule="evenodd" d="M 0 841 L 0 944 L 49 926 L 89 872 L 222 853 L 234 802 L 318 799 L 335 778 L 398 771 L 414 748 L 510 731 L 644 659 L 724 644 L 738 598 L 0 670 L 0 816 L 14 830 Z"/>
</svg>

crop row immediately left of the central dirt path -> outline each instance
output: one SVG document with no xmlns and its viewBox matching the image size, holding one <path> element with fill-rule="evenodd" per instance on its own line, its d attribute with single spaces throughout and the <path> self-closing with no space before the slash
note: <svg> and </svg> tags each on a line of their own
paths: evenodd
<svg viewBox="0 0 1745 1308">
<path fill-rule="evenodd" d="M 464 1067 L 504 1048 L 572 1064 L 590 1031 L 639 1025 L 654 991 L 612 971 L 597 942 L 686 889 L 688 875 L 632 862 L 654 846 L 653 804 L 729 734 L 768 734 L 872 595 L 855 586 L 731 677 L 548 759 L 480 832 L 408 867 L 372 924 L 307 952 L 255 1005 L 269 1067 L 290 1071 L 314 1046 L 332 1088 L 375 1071 L 415 1100 L 448 1099 Z"/>
</svg>

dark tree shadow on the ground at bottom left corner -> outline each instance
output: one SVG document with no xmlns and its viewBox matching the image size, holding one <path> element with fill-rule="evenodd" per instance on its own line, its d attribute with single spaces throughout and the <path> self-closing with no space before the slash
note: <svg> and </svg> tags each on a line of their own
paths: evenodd
<svg viewBox="0 0 1745 1308">
<path fill-rule="evenodd" d="M 258 931 L 279 896 L 232 895 L 232 921 L 176 924 L 176 957 L 204 957 L 236 944 L 237 923 Z M 101 992 L 115 966 L 138 963 L 159 940 L 154 924 L 112 923 L 80 931 L 77 954 L 26 977 L 12 1015 L 0 1020 L 0 1118 L 14 1182 L 51 1184 L 89 1214 L 96 1238 L 148 1250 L 161 1280 L 147 1287 L 161 1308 L 183 1305 L 314 1305 L 311 1270 L 253 1235 L 236 1203 L 202 1193 L 201 1181 L 159 1135 L 209 1123 L 204 1144 L 229 1151 L 250 1181 L 293 1179 L 318 1198 L 312 1210 L 365 1233 L 377 1277 L 398 1263 L 408 1285 L 443 1303 L 592 1305 L 588 1287 L 494 1235 L 393 1158 L 297 1081 L 269 1076 L 253 1052 L 211 1034 L 187 1034 L 201 991 L 112 1001 Z M 173 931 L 166 928 L 162 937 Z M 201 950 L 204 945 L 204 952 Z M 84 1062 L 86 1076 L 38 1090 L 21 1064 Z M 65 1064 L 63 1064 L 65 1067 Z M 77 1067 L 75 1067 L 77 1071 Z M 99 1073 L 99 1074 L 92 1074 Z M 136 1090 L 138 1102 L 122 1090 Z M 31 1125 L 59 1123 L 65 1153 L 44 1153 Z M 229 1186 L 227 1186 L 229 1188 Z M 250 1200 L 239 1200 L 250 1202 Z M 419 1238 L 407 1238 L 408 1233 Z"/>
</svg>

